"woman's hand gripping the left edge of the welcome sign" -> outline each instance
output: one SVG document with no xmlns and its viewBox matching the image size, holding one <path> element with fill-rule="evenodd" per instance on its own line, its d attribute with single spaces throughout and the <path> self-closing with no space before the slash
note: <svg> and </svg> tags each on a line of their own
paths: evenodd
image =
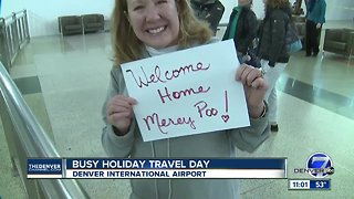
<svg viewBox="0 0 354 199">
<path fill-rule="evenodd" d="M 132 124 L 133 105 L 136 101 L 124 95 L 116 95 L 107 103 L 107 119 L 118 132 L 119 136 L 125 135 Z"/>
</svg>

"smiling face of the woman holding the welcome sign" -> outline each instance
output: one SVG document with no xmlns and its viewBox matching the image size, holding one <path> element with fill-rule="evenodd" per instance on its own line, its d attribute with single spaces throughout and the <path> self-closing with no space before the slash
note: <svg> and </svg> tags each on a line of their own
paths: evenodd
<svg viewBox="0 0 354 199">
<path fill-rule="evenodd" d="M 179 20 L 175 0 L 126 1 L 127 18 L 143 43 L 155 49 L 177 44 Z"/>
</svg>

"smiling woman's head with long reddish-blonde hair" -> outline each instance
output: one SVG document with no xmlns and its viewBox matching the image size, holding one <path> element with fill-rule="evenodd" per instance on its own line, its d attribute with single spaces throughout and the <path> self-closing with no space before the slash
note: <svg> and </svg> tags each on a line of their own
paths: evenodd
<svg viewBox="0 0 354 199">
<path fill-rule="evenodd" d="M 162 10 L 162 8 L 167 10 Z M 177 13 L 177 8 L 183 12 Z M 152 13 L 147 13 L 152 9 L 154 9 Z M 147 41 L 148 44 L 146 44 L 157 49 L 169 44 L 187 48 L 196 41 L 206 43 L 212 35 L 208 27 L 208 23 L 196 20 L 186 0 L 122 0 L 119 2 L 116 0 L 112 14 L 115 64 L 142 59 L 146 51 L 144 41 L 149 40 L 148 38 L 153 41 Z M 157 35 L 163 35 L 163 38 Z"/>
</svg>

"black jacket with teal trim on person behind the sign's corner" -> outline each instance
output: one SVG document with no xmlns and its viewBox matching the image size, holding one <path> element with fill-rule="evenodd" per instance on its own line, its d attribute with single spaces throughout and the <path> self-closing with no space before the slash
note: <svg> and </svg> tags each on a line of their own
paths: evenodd
<svg viewBox="0 0 354 199">
<path fill-rule="evenodd" d="M 228 39 L 232 20 L 237 14 L 237 10 L 232 10 L 228 27 L 222 40 Z M 240 17 L 236 27 L 236 34 L 233 36 L 235 46 L 238 52 L 246 54 L 249 48 L 252 48 L 252 42 L 257 35 L 258 22 L 254 12 L 249 8 L 242 8 Z"/>
</svg>

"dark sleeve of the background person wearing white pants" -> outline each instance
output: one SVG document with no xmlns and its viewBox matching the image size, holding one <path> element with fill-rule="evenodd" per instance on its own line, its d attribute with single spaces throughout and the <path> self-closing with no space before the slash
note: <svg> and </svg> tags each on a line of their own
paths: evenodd
<svg viewBox="0 0 354 199">
<path fill-rule="evenodd" d="M 287 21 L 282 13 L 272 14 L 271 23 L 271 43 L 269 52 L 269 65 L 274 66 L 285 44 Z"/>
</svg>

